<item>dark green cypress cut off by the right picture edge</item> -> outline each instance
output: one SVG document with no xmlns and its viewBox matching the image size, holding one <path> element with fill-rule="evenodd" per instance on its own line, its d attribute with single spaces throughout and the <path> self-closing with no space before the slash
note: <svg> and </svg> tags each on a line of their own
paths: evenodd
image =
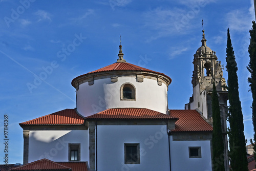
<svg viewBox="0 0 256 171">
<path fill-rule="evenodd" d="M 254 156 L 256 156 L 256 24 L 253 21 L 252 22 L 252 29 L 249 31 L 250 32 L 250 45 L 248 48 L 249 56 L 250 56 L 250 61 L 249 65 L 247 67 L 248 71 L 251 73 L 251 77 L 248 78 L 248 82 L 250 83 L 250 91 L 252 93 L 252 124 L 253 124 L 253 131 L 254 131 L 254 136 L 253 136 L 253 141 L 250 139 L 251 144 L 253 145 L 254 149 Z M 256 157 L 254 157 L 256 161 Z"/>
</svg>

